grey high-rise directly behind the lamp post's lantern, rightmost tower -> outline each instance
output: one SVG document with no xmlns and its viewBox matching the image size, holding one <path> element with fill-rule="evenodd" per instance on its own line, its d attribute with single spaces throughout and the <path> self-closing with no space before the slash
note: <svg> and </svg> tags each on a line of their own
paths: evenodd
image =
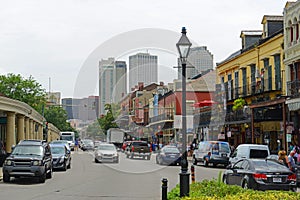
<svg viewBox="0 0 300 200">
<path fill-rule="evenodd" d="M 181 66 L 178 59 L 178 66 Z M 213 55 L 207 50 L 206 46 L 194 47 L 190 49 L 186 68 L 186 78 L 191 79 L 196 75 L 213 69 Z M 178 79 L 181 79 L 181 68 L 178 68 Z"/>
</svg>

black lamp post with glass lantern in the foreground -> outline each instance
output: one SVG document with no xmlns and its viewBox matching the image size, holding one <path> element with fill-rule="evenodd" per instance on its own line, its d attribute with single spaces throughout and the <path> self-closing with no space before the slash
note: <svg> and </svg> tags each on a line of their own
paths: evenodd
<svg viewBox="0 0 300 200">
<path fill-rule="evenodd" d="M 187 57 L 190 52 L 189 39 L 186 36 L 186 29 L 182 27 L 182 35 L 176 46 L 180 55 L 181 61 L 181 83 L 182 83 L 182 100 L 181 100 L 181 113 L 182 113 L 182 158 L 181 158 L 181 172 L 179 173 L 180 180 L 180 197 L 189 196 L 190 193 L 190 174 L 188 173 L 188 161 L 187 161 L 187 145 L 186 145 L 186 63 Z"/>
</svg>

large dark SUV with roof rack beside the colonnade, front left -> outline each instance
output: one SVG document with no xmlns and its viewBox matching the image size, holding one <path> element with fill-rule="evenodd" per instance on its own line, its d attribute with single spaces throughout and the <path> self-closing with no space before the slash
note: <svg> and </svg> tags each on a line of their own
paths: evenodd
<svg viewBox="0 0 300 200">
<path fill-rule="evenodd" d="M 52 154 L 49 144 L 44 140 L 22 140 L 2 168 L 3 181 L 9 182 L 10 177 L 37 177 L 44 183 L 52 178 Z"/>
</svg>

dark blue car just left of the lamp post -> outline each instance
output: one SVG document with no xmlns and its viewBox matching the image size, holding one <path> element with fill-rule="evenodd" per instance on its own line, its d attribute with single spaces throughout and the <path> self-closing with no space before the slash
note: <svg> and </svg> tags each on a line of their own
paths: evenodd
<svg viewBox="0 0 300 200">
<path fill-rule="evenodd" d="M 181 154 L 176 146 L 164 146 L 156 154 L 156 163 L 160 165 L 177 165 L 180 164 L 180 161 Z"/>
</svg>

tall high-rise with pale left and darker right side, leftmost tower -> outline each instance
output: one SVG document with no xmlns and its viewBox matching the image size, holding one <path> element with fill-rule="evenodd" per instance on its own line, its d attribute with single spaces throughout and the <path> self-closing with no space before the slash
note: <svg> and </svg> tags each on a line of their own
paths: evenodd
<svg viewBox="0 0 300 200">
<path fill-rule="evenodd" d="M 99 62 L 99 114 L 104 114 L 105 104 L 119 103 L 127 94 L 127 66 L 114 58 Z"/>
</svg>

